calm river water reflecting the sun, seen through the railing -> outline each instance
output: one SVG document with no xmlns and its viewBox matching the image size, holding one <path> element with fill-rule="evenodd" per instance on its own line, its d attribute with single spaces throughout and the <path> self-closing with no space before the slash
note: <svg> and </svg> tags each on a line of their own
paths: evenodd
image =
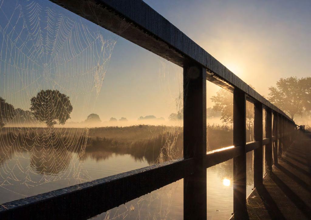
<svg viewBox="0 0 311 220">
<path fill-rule="evenodd" d="M 95 180 L 111 176 L 121 172 L 127 172 L 141 167 L 149 166 L 146 159 L 135 159 L 130 154 L 119 154 L 97 150 L 86 152 L 83 159 L 79 159 L 78 153 L 67 151 L 54 157 L 56 164 L 61 161 L 66 166 L 53 166 L 48 163 L 42 166 L 41 157 L 34 157 L 29 151 L 14 152 L 11 158 L 7 158 L 0 164 L 2 185 L 0 187 L 0 203 L 36 195 L 50 190 L 75 185 L 81 182 Z M 40 154 L 37 154 L 40 156 Z M 67 161 L 69 158 L 69 161 Z M 247 155 L 247 194 L 253 188 L 253 164 L 252 154 Z M 35 161 L 34 161 L 35 160 Z M 17 163 L 18 161 L 18 163 Z M 31 162 L 32 161 L 32 162 Z M 32 165 L 31 165 L 32 164 Z M 77 165 L 79 164 L 79 166 Z M 47 166 L 50 165 L 50 166 Z M 11 173 L 6 174 L 6 167 L 14 167 Z M 25 169 L 30 171 L 26 174 Z M 42 168 L 43 167 L 43 168 Z M 50 167 L 50 170 L 47 168 Z M 52 168 L 51 168 L 52 167 Z M 77 173 L 79 168 L 79 175 Z M 45 172 L 42 172 L 45 169 Z M 49 172 L 47 172 L 49 171 Z M 48 174 L 49 173 L 49 174 Z M 5 175 L 6 180 L 3 182 Z M 31 181 L 22 183 L 25 175 Z M 74 178 L 73 178 L 74 176 Z M 228 219 L 233 212 L 233 160 L 228 160 L 207 169 L 207 216 L 208 219 Z M 15 179 L 15 180 L 14 180 Z M 18 181 L 16 181 L 18 180 Z M 31 186 L 31 184 L 33 186 Z M 109 199 L 109 198 L 107 198 Z M 140 198 L 129 201 L 109 212 L 102 213 L 93 219 L 182 219 L 183 218 L 183 180 L 176 181 L 168 186 L 155 190 Z"/>
</svg>

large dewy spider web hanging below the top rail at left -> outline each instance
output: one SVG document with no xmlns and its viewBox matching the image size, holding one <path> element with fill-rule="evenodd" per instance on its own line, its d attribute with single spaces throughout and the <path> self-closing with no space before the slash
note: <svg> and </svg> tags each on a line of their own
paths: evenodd
<svg viewBox="0 0 311 220">
<path fill-rule="evenodd" d="M 10 119 L 2 118 L 0 187 L 90 180 L 80 160 L 88 129 L 47 129 L 25 110 L 41 89 L 57 89 L 70 97 L 73 108 L 83 106 L 83 116 L 91 96 L 100 93 L 116 39 L 105 39 L 101 28 L 88 28 L 48 1 L 2 0 L 0 21 L 0 96 L 15 107 L 6 109 Z M 46 109 L 52 118 L 54 108 Z"/>
</svg>

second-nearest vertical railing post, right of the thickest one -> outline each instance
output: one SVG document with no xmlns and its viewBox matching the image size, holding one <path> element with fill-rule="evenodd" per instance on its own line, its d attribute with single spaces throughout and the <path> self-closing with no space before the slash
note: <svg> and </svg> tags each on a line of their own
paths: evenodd
<svg viewBox="0 0 311 220">
<path fill-rule="evenodd" d="M 233 158 L 233 212 L 242 219 L 246 212 L 246 94 L 233 91 L 233 144 L 240 147 L 240 156 Z"/>
</svg>

